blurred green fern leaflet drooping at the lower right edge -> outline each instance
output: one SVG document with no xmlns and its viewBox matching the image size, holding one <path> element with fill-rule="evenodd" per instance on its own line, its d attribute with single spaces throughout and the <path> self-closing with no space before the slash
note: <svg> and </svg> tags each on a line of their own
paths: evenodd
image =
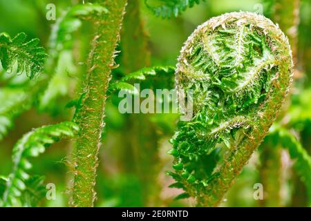
<svg viewBox="0 0 311 221">
<path fill-rule="evenodd" d="M 290 158 L 294 160 L 294 169 L 305 184 L 308 192 L 309 206 L 311 206 L 311 156 L 303 148 L 301 142 L 285 128 L 273 127 L 266 140 L 272 141 L 273 146 L 279 145 L 282 148 L 288 149 Z"/>
</svg>

